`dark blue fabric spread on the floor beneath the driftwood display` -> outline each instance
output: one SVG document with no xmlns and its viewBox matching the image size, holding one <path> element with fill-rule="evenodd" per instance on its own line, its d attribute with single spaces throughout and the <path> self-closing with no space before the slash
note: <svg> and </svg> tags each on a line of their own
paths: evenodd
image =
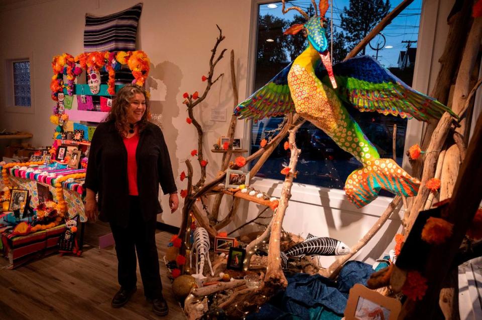
<svg viewBox="0 0 482 320">
<path fill-rule="evenodd" d="M 257 313 L 247 316 L 257 319 L 339 320 L 346 307 L 348 292 L 355 283 L 367 284 L 374 272 L 372 266 L 348 261 L 341 269 L 337 282 L 319 274 L 297 273 L 287 277 L 288 286 Z"/>
</svg>

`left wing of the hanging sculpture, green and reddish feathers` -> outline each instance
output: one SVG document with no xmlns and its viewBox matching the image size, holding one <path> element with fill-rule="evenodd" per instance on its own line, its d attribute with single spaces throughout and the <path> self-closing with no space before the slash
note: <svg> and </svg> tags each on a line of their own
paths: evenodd
<svg viewBox="0 0 482 320">
<path fill-rule="evenodd" d="M 253 93 L 248 99 L 239 103 L 234 108 L 234 115 L 238 116 L 239 119 L 259 120 L 295 111 L 295 104 L 291 99 L 291 92 L 288 87 L 288 72 L 291 69 L 291 64 L 281 70 L 270 82 Z"/>
</svg>

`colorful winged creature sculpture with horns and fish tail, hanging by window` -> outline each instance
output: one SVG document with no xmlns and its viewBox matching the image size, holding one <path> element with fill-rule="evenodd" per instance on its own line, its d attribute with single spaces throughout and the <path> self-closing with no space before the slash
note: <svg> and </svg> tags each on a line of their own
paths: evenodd
<svg viewBox="0 0 482 320">
<path fill-rule="evenodd" d="M 320 1 L 319 9 L 320 16 L 309 18 L 298 7 L 285 10 L 283 1 L 283 13 L 297 10 L 307 20 L 303 25 L 291 26 L 284 34 L 304 31 L 308 46 L 264 87 L 238 104 L 234 114 L 240 119 L 262 119 L 297 112 L 323 130 L 362 163 L 362 168 L 348 176 L 344 187 L 348 199 L 358 208 L 377 198 L 381 188 L 396 195 L 415 196 L 420 181 L 393 159 L 380 158 L 346 108 L 351 105 L 362 112 L 377 111 L 422 121 L 438 119 L 445 111 L 455 114 L 410 88 L 372 57 L 360 56 L 332 66 L 323 18 L 327 0 Z"/>
</svg>

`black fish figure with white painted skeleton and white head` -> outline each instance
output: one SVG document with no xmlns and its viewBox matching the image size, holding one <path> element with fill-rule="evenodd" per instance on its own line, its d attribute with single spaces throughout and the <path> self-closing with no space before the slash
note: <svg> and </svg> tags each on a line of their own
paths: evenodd
<svg viewBox="0 0 482 320">
<path fill-rule="evenodd" d="M 285 252 L 281 252 L 281 260 L 286 266 L 289 257 L 334 256 L 348 253 L 350 253 L 350 248 L 343 242 L 328 237 L 315 237 L 308 233 L 305 241 L 295 244 Z"/>
</svg>

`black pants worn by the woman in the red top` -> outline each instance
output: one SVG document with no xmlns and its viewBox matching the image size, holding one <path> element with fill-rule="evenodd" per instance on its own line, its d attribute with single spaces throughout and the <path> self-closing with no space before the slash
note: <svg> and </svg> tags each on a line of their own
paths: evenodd
<svg viewBox="0 0 482 320">
<path fill-rule="evenodd" d="M 129 196 L 129 224 L 127 228 L 110 222 L 117 253 L 117 277 L 121 287 L 132 289 L 137 283 L 137 257 L 141 270 L 144 295 L 148 298 L 162 296 L 159 257 L 156 247 L 156 217 L 144 221 L 139 212 L 139 197 Z"/>
</svg>

